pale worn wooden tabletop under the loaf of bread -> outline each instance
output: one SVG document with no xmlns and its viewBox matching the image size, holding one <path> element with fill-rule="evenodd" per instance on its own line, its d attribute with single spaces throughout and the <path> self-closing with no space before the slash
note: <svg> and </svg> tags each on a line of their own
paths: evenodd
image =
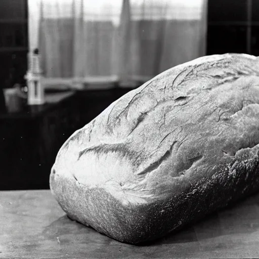
<svg viewBox="0 0 259 259">
<path fill-rule="evenodd" d="M 0 192 L 0 257 L 259 257 L 259 194 L 146 245 L 128 245 L 69 220 L 50 190 Z"/>
</svg>

